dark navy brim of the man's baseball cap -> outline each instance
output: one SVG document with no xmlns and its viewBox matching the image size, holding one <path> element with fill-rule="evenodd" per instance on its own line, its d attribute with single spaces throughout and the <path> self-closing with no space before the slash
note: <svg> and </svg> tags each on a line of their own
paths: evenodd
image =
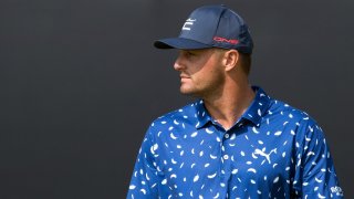
<svg viewBox="0 0 354 199">
<path fill-rule="evenodd" d="M 157 49 L 180 49 L 180 50 L 197 50 L 197 49 L 208 49 L 210 45 L 197 42 L 195 40 L 185 38 L 168 38 L 163 40 L 157 40 L 154 42 L 154 46 Z"/>
</svg>

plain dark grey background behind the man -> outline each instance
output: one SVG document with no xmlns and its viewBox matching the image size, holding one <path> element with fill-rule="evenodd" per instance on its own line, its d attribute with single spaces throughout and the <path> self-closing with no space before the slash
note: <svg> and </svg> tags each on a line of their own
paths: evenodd
<svg viewBox="0 0 354 199">
<path fill-rule="evenodd" d="M 220 2 L 251 28 L 252 84 L 315 117 L 354 197 L 354 1 L 1 0 L 0 198 L 124 198 L 148 124 L 191 100 L 152 43 Z"/>
</svg>

